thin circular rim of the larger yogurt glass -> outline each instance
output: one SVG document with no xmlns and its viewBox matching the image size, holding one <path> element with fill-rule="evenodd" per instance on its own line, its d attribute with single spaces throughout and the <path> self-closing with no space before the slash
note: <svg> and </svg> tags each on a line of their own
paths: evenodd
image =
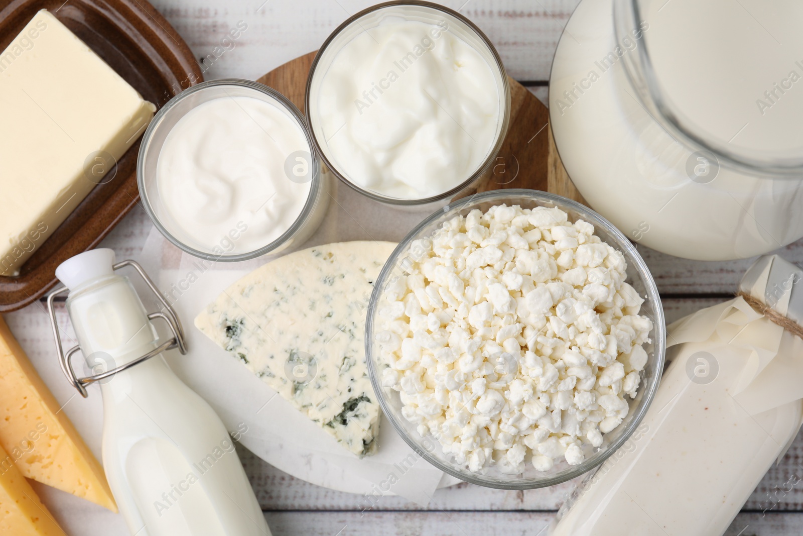
<svg viewBox="0 0 803 536">
<path fill-rule="evenodd" d="M 499 103 L 502 104 L 502 110 L 500 114 L 501 119 L 501 128 L 499 129 L 499 133 L 496 136 L 494 145 L 491 146 L 490 152 L 488 153 L 488 157 L 477 167 L 477 169 L 471 173 L 471 175 L 463 182 L 461 182 L 458 186 L 454 186 L 450 188 L 450 190 L 446 190 L 441 194 L 432 195 L 428 198 L 393 198 L 386 195 L 379 194 L 376 191 L 368 190 L 363 188 L 362 186 L 357 186 L 348 177 L 344 174 L 340 173 L 340 170 L 337 169 L 336 166 L 329 160 L 327 157 L 323 145 L 321 145 L 318 141 L 318 138 L 315 134 L 315 129 L 312 128 L 312 114 L 310 113 L 310 96 L 312 94 L 312 79 L 316 74 L 316 68 L 318 67 L 318 63 L 320 63 L 320 59 L 323 57 L 324 53 L 328 50 L 328 47 L 332 44 L 332 42 L 336 39 L 338 35 L 342 31 L 344 31 L 347 27 L 350 27 L 353 23 L 356 23 L 360 18 L 364 17 L 367 14 L 371 14 L 374 11 L 382 10 L 388 7 L 394 6 L 417 6 L 417 7 L 426 7 L 434 11 L 440 11 L 449 15 L 450 17 L 456 18 L 461 23 L 465 24 L 469 30 L 473 31 L 479 39 L 485 43 L 485 46 L 488 48 L 488 51 L 491 52 L 491 56 L 495 60 L 495 67 L 499 69 L 499 76 L 502 80 L 502 90 L 503 94 L 499 95 Z M 491 68 L 494 66 L 491 65 Z M 426 0 L 391 0 L 390 2 L 381 2 L 374 6 L 370 6 L 364 10 L 358 11 L 357 13 L 351 15 L 349 18 L 345 19 L 343 23 L 340 23 L 340 26 L 336 27 L 331 34 L 328 35 L 326 40 L 323 44 L 321 44 L 320 48 L 318 49 L 315 59 L 312 60 L 312 65 L 309 68 L 309 74 L 307 76 L 307 85 L 304 90 L 304 112 L 307 119 L 308 124 L 308 131 L 310 136 L 312 137 L 312 141 L 315 144 L 315 149 L 320 156 L 320 159 L 326 164 L 328 170 L 332 172 L 337 178 L 340 179 L 341 182 L 344 182 L 347 186 L 353 188 L 360 194 L 365 195 L 365 197 L 371 198 L 374 201 L 378 201 L 380 203 L 388 203 L 391 205 L 398 205 L 398 206 L 418 206 L 418 205 L 426 205 L 428 203 L 435 203 L 438 201 L 443 201 L 444 199 L 448 199 L 454 194 L 457 194 L 461 190 L 465 189 L 469 186 L 472 182 L 474 182 L 477 178 L 481 177 L 483 173 L 485 173 L 490 166 L 494 162 L 494 158 L 498 155 L 499 150 L 502 149 L 503 142 L 505 137 L 507 137 L 507 129 L 510 125 L 510 114 L 511 114 L 511 90 L 510 90 L 510 81 L 507 79 L 507 72 L 505 71 L 504 65 L 502 63 L 502 58 L 499 56 L 499 51 L 496 50 L 493 43 L 491 43 L 491 39 L 488 39 L 487 35 L 483 33 L 482 30 L 472 23 L 471 20 L 464 17 L 462 14 L 459 14 L 457 11 L 452 10 L 446 6 L 440 6 L 433 2 L 426 2 Z"/>
</svg>

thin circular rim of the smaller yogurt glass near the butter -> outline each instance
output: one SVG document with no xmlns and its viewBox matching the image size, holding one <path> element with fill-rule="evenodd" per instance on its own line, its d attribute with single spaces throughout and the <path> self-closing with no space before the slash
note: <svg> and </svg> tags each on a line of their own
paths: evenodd
<svg viewBox="0 0 803 536">
<path fill-rule="evenodd" d="M 161 223 L 161 220 L 156 214 L 156 211 L 153 210 L 153 206 L 151 204 L 150 198 L 148 196 L 148 192 L 145 188 L 145 159 L 147 157 L 147 153 L 149 151 L 150 143 L 153 138 L 154 133 L 156 133 L 157 129 L 160 128 L 161 121 L 164 120 L 165 117 L 171 113 L 173 108 L 180 103 L 182 100 L 185 100 L 187 97 L 194 95 L 198 92 L 203 92 L 210 88 L 218 88 L 218 87 L 235 87 L 235 88 L 247 88 L 251 90 L 255 90 L 256 92 L 260 92 L 263 95 L 267 95 L 271 97 L 273 100 L 276 100 L 286 111 L 290 113 L 291 117 L 296 120 L 296 123 L 299 125 L 301 132 L 304 133 L 304 138 L 307 140 L 307 144 L 310 149 L 310 157 L 311 161 L 310 166 L 312 166 L 312 178 L 310 179 L 310 189 L 307 195 L 307 201 L 304 203 L 304 207 L 301 208 L 301 211 L 296 218 L 296 220 L 292 223 L 290 227 L 287 228 L 287 231 L 284 231 L 282 235 L 279 235 L 278 238 L 272 240 L 270 243 L 252 250 L 251 252 L 243 252 L 243 253 L 235 253 L 235 254 L 222 254 L 217 255 L 215 253 L 210 252 L 202 252 L 192 246 L 182 242 L 180 239 L 177 239 L 173 233 L 167 230 L 167 228 Z M 218 97 L 221 98 L 221 97 Z M 208 102 L 208 101 L 206 101 Z M 154 178 L 154 180 L 157 180 Z M 151 120 L 148 128 L 145 129 L 145 133 L 142 135 L 142 141 L 140 144 L 140 150 L 137 154 L 137 188 L 139 189 L 140 198 L 142 200 L 142 207 L 145 209 L 145 213 L 153 222 L 154 227 L 156 227 L 161 235 L 163 235 L 166 239 L 169 240 L 170 243 L 173 243 L 174 246 L 181 249 L 184 252 L 190 253 L 192 256 L 196 256 L 198 258 L 204 260 L 212 260 L 217 262 L 237 262 L 240 260 L 251 260 L 257 257 L 266 255 L 274 251 L 275 249 L 279 248 L 286 243 L 287 240 L 291 239 L 296 232 L 304 225 L 308 215 L 312 212 L 312 208 L 316 203 L 316 198 L 318 193 L 321 189 L 321 170 L 320 170 L 320 162 L 317 158 L 317 153 L 315 146 L 312 144 L 312 138 L 310 137 L 307 122 L 304 120 L 304 115 L 300 112 L 296 105 L 291 102 L 291 100 L 287 99 L 286 96 L 283 96 L 281 93 L 276 91 L 274 88 L 271 88 L 265 84 L 259 84 L 259 82 L 254 82 L 252 80 L 244 80 L 239 78 L 222 78 L 219 80 L 209 80 L 206 82 L 202 82 L 200 84 L 196 84 L 191 86 L 190 88 L 185 89 L 181 93 L 178 93 L 176 96 L 173 96 L 164 106 L 162 106 L 156 115 L 153 116 L 153 120 Z"/>
</svg>

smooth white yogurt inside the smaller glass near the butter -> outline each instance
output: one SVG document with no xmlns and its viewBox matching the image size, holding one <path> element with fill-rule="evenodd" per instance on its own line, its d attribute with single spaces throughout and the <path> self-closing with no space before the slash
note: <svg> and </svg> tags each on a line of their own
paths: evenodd
<svg viewBox="0 0 803 536">
<path fill-rule="evenodd" d="M 278 239 L 309 196 L 310 162 L 293 160 L 300 152 L 312 153 L 304 130 L 278 102 L 222 96 L 190 109 L 157 163 L 159 198 L 183 232 L 177 238 L 226 255 Z"/>
</svg>

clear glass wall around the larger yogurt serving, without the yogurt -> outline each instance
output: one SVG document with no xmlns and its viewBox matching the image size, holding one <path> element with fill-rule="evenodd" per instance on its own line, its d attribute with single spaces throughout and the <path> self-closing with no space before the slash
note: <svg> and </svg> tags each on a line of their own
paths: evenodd
<svg viewBox="0 0 803 536">
<path fill-rule="evenodd" d="M 448 31 L 468 43 L 485 59 L 487 65 L 491 68 L 495 79 L 496 91 L 499 95 L 499 121 L 497 121 L 495 136 L 491 145 L 487 147 L 487 153 L 479 166 L 471 173 L 468 173 L 466 178 L 456 186 L 440 194 L 424 198 L 392 197 L 356 184 L 352 178 L 349 177 L 349 173 L 343 169 L 343 166 L 337 164 L 336 158 L 332 156 L 332 151 L 329 149 L 328 141 L 330 141 L 336 133 L 340 132 L 342 127 L 337 129 L 334 133 L 324 133 L 324 128 L 321 125 L 318 113 L 318 110 L 321 108 L 318 100 L 322 81 L 329 68 L 331 68 L 336 55 L 343 49 L 344 45 L 351 42 L 365 31 L 380 27 L 384 23 L 395 22 L 400 19 L 434 25 L 446 21 L 448 24 Z M 391 65 L 390 67 L 393 66 Z M 467 191 L 472 185 L 475 185 L 483 179 L 490 178 L 493 172 L 494 159 L 499 153 L 499 149 L 501 149 L 507 134 L 507 127 L 510 122 L 511 114 L 510 84 L 507 80 L 507 74 L 505 74 L 502 59 L 499 58 L 499 53 L 487 36 L 483 34 L 483 31 L 457 11 L 450 10 L 444 6 L 438 6 L 431 2 L 417 2 L 416 0 L 402 0 L 377 4 L 376 6 L 369 7 L 368 9 L 354 14 L 352 17 L 346 19 L 344 23 L 340 24 L 340 26 L 329 35 L 326 41 L 324 41 L 324 44 L 321 45 L 318 54 L 312 62 L 307 80 L 305 105 L 312 141 L 324 161 L 324 164 L 332 171 L 332 174 L 335 174 L 341 181 L 366 197 L 372 198 L 380 203 L 406 207 L 421 207 L 430 203 L 435 206 L 434 203 L 444 200 L 448 201 L 458 197 L 460 193 Z M 438 104 L 438 106 L 440 106 L 440 104 Z"/>
</svg>

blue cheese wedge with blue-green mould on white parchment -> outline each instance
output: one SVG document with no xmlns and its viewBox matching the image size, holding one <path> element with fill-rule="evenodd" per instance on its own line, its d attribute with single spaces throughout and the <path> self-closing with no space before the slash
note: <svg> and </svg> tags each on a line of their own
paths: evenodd
<svg viewBox="0 0 803 536">
<path fill-rule="evenodd" d="M 195 326 L 358 456 L 377 452 L 365 313 L 395 243 L 330 243 L 280 257 L 224 291 Z"/>
</svg>

